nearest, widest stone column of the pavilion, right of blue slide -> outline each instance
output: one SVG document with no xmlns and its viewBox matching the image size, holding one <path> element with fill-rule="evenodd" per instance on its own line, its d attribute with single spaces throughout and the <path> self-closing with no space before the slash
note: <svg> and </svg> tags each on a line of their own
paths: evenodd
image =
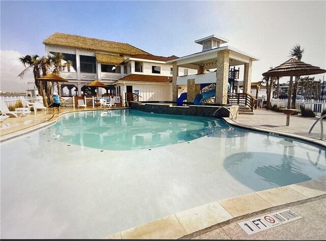
<svg viewBox="0 0 326 241">
<path fill-rule="evenodd" d="M 218 52 L 215 103 L 227 104 L 226 95 L 228 94 L 229 56 L 230 51 L 227 49 Z"/>
</svg>

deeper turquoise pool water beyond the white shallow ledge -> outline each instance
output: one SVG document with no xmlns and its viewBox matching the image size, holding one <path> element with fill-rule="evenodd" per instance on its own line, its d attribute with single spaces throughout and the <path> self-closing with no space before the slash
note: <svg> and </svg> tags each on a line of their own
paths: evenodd
<svg viewBox="0 0 326 241">
<path fill-rule="evenodd" d="M 136 110 L 79 112 L 51 126 L 58 141 L 103 150 L 136 150 L 187 142 L 225 122 L 195 116 L 157 115 Z"/>
</svg>

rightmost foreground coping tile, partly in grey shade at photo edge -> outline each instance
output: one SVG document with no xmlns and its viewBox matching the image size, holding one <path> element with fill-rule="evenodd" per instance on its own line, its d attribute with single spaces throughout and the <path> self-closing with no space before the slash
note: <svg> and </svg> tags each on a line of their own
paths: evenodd
<svg viewBox="0 0 326 241">
<path fill-rule="evenodd" d="M 290 189 L 306 196 L 307 198 L 317 197 L 326 194 L 326 185 L 315 180 L 303 181 L 288 185 Z"/>
</svg>

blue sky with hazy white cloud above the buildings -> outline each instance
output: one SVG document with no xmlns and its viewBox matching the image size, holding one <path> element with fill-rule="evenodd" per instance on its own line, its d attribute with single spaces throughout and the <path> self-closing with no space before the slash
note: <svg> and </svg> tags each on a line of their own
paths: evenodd
<svg viewBox="0 0 326 241">
<path fill-rule="evenodd" d="M 24 92 L 18 58 L 45 55 L 55 32 L 131 44 L 157 56 L 202 50 L 212 34 L 259 61 L 252 82 L 304 48 L 302 61 L 326 69 L 326 1 L 0 1 L 0 90 Z M 312 75 L 323 80 L 325 74 Z M 326 81 L 326 77 L 324 77 Z M 283 77 L 281 83 L 286 83 Z"/>
</svg>

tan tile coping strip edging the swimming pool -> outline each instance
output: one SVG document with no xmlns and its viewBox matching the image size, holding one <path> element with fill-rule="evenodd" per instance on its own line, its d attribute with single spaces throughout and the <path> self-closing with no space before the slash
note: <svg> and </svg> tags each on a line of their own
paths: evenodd
<svg viewBox="0 0 326 241">
<path fill-rule="evenodd" d="M 119 108 L 115 110 L 124 110 L 130 108 Z M 4 135 L 2 140 L 7 141 L 26 133 L 30 133 L 39 129 L 43 129 L 59 120 L 59 118 L 68 113 L 87 112 L 87 111 L 103 111 L 96 110 L 71 110 L 63 111 L 59 115 L 52 115 L 47 120 L 35 124 L 24 129 L 14 131 Z M 266 130 L 259 127 L 252 127 L 238 123 L 236 120 L 223 118 L 231 126 L 236 126 L 244 129 L 269 133 L 269 135 L 279 135 L 280 137 L 290 137 L 308 143 L 326 147 L 324 141 L 316 140 L 309 137 L 295 135 L 286 131 Z M 276 135 L 276 136 L 277 136 Z M 185 238 L 200 230 L 206 230 L 216 225 L 236 221 L 240 217 L 252 215 L 252 213 L 264 211 L 270 208 L 280 207 L 291 203 L 309 200 L 314 197 L 323 196 L 326 194 L 326 180 L 309 180 L 300 183 L 281 186 L 278 188 L 267 189 L 254 193 L 244 194 L 241 196 L 216 200 L 214 202 L 190 208 L 184 211 L 173 213 L 169 216 L 157 219 L 155 221 L 135 226 L 133 228 L 122 230 L 115 234 L 110 234 L 104 238 Z M 326 197 L 326 196 L 325 196 Z"/>
</svg>

